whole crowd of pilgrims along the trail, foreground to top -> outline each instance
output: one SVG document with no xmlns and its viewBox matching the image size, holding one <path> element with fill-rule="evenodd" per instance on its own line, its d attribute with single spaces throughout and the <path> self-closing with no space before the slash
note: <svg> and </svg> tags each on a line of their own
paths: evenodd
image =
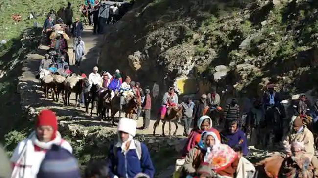
<svg viewBox="0 0 318 178">
<path fill-rule="evenodd" d="M 94 25 L 94 33 L 103 33 L 106 24 L 115 23 L 121 18 L 118 6 L 120 5 L 108 3 L 107 0 L 87 0 L 82 12 L 87 15 L 89 25 Z M 45 55 L 39 69 L 68 76 L 72 72 L 69 70 L 66 29 L 74 37 L 73 52 L 75 64 L 78 66 L 85 54 L 85 43 L 81 38 L 83 24 L 78 18 L 75 18 L 74 23 L 71 21 L 71 4 L 68 3 L 62 11 L 68 15 L 62 17 L 63 13 L 58 12 L 60 15 L 56 15 L 51 11 L 44 22 L 43 32 L 49 37 L 51 52 Z M 141 129 L 149 128 L 152 103 L 149 88 L 143 90 L 140 83 L 131 81 L 129 76 L 123 80 L 119 70 L 116 70 L 114 75 L 106 71 L 99 74 L 98 67 L 94 67 L 88 77 L 84 73 L 81 75 L 88 78 L 90 86 L 98 85 L 99 94 L 110 91 L 109 101 L 115 95 L 120 96 L 120 110 L 125 105 L 126 96 L 136 96 L 140 103 L 140 106 L 135 108 L 137 119 L 139 116 L 144 118 Z M 83 95 L 82 93 L 79 99 L 81 103 L 84 103 Z M 231 99 L 224 110 L 220 103 L 221 97 L 215 87 L 195 102 L 187 97 L 179 104 L 174 87 L 170 87 L 163 95 L 158 112 L 160 119 L 166 119 L 169 108 L 182 108 L 183 136 L 187 137 L 184 149 L 178 155 L 182 165 L 173 173 L 174 178 L 255 177 L 257 170 L 246 158 L 250 153 L 246 133 L 241 130 L 238 100 Z M 318 175 L 314 136 L 304 124 L 308 107 L 305 94 L 300 95 L 291 129 L 284 133 L 280 140 L 284 153 L 279 155 L 283 159 L 276 175 L 279 178 L 314 178 Z M 262 102 L 255 101 L 251 109 L 257 135 L 262 135 L 260 125 L 264 120 L 266 122 L 265 113 L 271 108 L 279 111 L 279 117 L 286 117 L 279 93 L 274 90 L 273 84 L 267 85 Z M 223 112 L 220 117 L 224 118 L 222 129 L 212 121 L 215 120 L 212 113 L 221 111 Z M 314 118 L 316 113 L 318 114 L 318 102 L 314 105 Z M 152 161 L 147 146 L 135 139 L 136 129 L 135 120 L 120 118 L 117 125 L 118 138 L 108 151 L 105 150 L 105 159 L 90 162 L 83 174 L 77 159 L 72 155 L 72 146 L 58 131 L 55 113 L 48 109 L 42 110 L 37 116 L 34 130 L 16 146 L 10 160 L 0 150 L 0 178 L 153 178 L 156 174 L 156 162 Z M 269 175 L 270 171 L 265 172 Z"/>
</svg>

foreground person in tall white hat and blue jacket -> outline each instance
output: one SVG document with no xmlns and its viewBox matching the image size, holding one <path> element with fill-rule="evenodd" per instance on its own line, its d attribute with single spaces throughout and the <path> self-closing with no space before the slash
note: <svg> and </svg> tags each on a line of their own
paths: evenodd
<svg viewBox="0 0 318 178">
<path fill-rule="evenodd" d="M 147 146 L 134 139 L 136 126 L 135 120 L 119 120 L 118 142 L 110 147 L 107 158 L 110 178 L 134 178 L 141 173 L 154 177 L 155 168 Z"/>
</svg>

